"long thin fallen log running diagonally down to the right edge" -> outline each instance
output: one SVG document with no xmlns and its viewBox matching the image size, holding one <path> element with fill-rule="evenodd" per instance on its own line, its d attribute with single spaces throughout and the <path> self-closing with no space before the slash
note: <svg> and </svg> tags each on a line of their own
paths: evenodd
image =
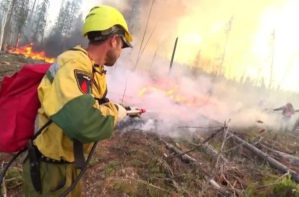
<svg viewBox="0 0 299 197">
<path fill-rule="evenodd" d="M 262 150 L 256 148 L 254 145 L 246 142 L 245 140 L 241 139 L 240 137 L 238 137 L 237 135 L 231 133 L 228 131 L 228 134 L 231 135 L 231 137 L 235 140 L 235 142 L 239 143 L 240 145 L 242 145 L 243 147 L 245 147 L 246 149 L 248 149 L 249 151 L 253 152 L 255 155 L 257 155 L 259 158 L 264 159 L 265 161 L 267 161 L 269 163 L 270 166 L 272 166 L 273 168 L 281 171 L 282 173 L 287 173 L 290 172 L 292 179 L 299 183 L 299 174 L 290 169 L 288 166 L 280 163 L 279 161 L 277 161 L 276 159 L 270 157 L 267 153 L 263 152 Z"/>
</svg>

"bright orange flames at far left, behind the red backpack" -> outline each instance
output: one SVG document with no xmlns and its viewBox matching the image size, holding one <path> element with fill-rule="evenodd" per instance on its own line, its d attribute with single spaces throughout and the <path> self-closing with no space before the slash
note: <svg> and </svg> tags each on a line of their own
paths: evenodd
<svg viewBox="0 0 299 197">
<path fill-rule="evenodd" d="M 46 57 L 44 51 L 33 52 L 32 45 L 33 45 L 33 43 L 29 43 L 27 45 L 20 46 L 19 48 L 15 47 L 15 48 L 7 49 L 7 51 L 9 53 L 13 53 L 13 54 L 21 54 L 25 57 L 30 57 L 32 59 L 44 60 L 45 62 L 49 62 L 49 63 L 52 63 L 55 61 L 56 58 L 54 58 L 54 57 Z"/>
</svg>

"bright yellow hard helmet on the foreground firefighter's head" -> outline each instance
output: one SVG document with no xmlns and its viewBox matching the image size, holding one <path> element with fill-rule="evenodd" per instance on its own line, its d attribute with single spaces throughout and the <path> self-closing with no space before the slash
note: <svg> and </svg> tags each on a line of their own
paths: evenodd
<svg viewBox="0 0 299 197">
<path fill-rule="evenodd" d="M 122 27 L 122 30 L 125 31 L 123 35 L 123 37 L 125 38 L 124 41 L 128 44 L 128 46 L 132 47 L 130 42 L 133 40 L 133 38 L 131 33 L 129 32 L 128 25 L 124 16 L 120 11 L 109 5 L 94 6 L 90 9 L 83 23 L 83 37 L 85 37 L 90 31 L 113 32 L 113 30 L 115 30 L 115 26 Z"/>
</svg>

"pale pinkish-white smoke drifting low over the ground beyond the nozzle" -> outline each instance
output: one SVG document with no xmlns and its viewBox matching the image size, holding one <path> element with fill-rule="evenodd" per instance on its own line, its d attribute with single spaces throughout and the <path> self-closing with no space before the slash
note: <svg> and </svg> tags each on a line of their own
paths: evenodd
<svg viewBox="0 0 299 197">
<path fill-rule="evenodd" d="M 228 85 L 223 80 L 212 82 L 209 76 L 193 77 L 188 66 L 175 64 L 170 75 L 168 75 L 169 64 L 157 57 L 153 67 L 154 73 L 147 70 L 131 71 L 129 67 L 133 62 L 120 58 L 116 67 L 107 67 L 107 97 L 114 102 L 121 102 L 124 90 L 124 103 L 127 106 L 139 106 L 148 110 L 142 114 L 142 119 L 130 125 L 145 131 L 170 134 L 172 136 L 184 135 L 186 132 L 193 132 L 194 128 L 177 128 L 178 126 L 203 126 L 209 127 L 206 117 L 224 122 L 231 118 L 230 126 L 249 127 L 261 125 L 257 120 L 264 121 L 268 126 L 278 128 L 280 111 L 262 111 L 258 107 L 260 97 L 257 93 L 246 88 L 237 88 Z M 177 67 L 176 67 L 177 66 Z M 162 82 L 161 82 L 162 81 Z M 176 102 L 173 98 L 159 89 L 170 90 L 177 85 L 177 95 L 187 98 L 199 105 L 187 105 L 184 102 Z M 140 91 L 148 88 L 142 96 Z M 156 87 L 158 90 L 150 90 Z M 242 87 L 242 86 L 241 86 Z M 242 90 L 243 89 L 243 90 Z M 211 90 L 211 91 L 210 91 Z M 242 91 L 240 91 L 242 90 Z M 174 93 L 176 94 L 176 93 Z M 276 107 L 284 105 L 283 101 L 277 102 Z M 271 111 L 272 113 L 269 113 Z M 294 123 L 296 117 L 292 118 Z M 126 117 L 125 121 L 133 121 Z M 262 125 L 261 125 L 262 126 Z M 203 132 L 208 129 L 201 129 Z"/>
</svg>

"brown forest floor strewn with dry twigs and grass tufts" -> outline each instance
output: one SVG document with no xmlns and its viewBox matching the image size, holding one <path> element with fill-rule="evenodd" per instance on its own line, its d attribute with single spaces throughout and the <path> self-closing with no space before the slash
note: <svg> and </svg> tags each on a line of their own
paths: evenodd
<svg viewBox="0 0 299 197">
<path fill-rule="evenodd" d="M 34 62 L 40 61 L 2 54 L 0 77 L 13 74 L 23 63 Z M 223 131 L 212 137 L 211 133 L 195 132 L 174 139 L 156 134 L 158 131 L 149 133 L 128 126 L 132 129 L 123 131 L 118 127 L 111 138 L 98 143 L 81 179 L 83 196 L 299 196 L 299 184 L 292 181 L 290 173 L 274 169 L 265 158 L 259 158 Z M 298 133 L 282 133 L 265 126 L 262 130 L 235 130 L 234 134 L 246 142 L 255 141 L 255 145 L 299 156 Z M 202 144 L 208 138 L 208 144 Z M 173 156 L 177 152 L 169 148 L 171 145 L 177 151 L 192 151 Z M 215 150 L 217 156 L 204 147 Z M 264 151 L 299 173 L 299 162 Z M 4 165 L 11 155 L 0 153 L 0 164 Z M 227 161 L 222 163 L 220 158 Z M 2 192 L 23 196 L 22 186 L 22 169 L 17 161 L 6 173 Z"/>
</svg>

